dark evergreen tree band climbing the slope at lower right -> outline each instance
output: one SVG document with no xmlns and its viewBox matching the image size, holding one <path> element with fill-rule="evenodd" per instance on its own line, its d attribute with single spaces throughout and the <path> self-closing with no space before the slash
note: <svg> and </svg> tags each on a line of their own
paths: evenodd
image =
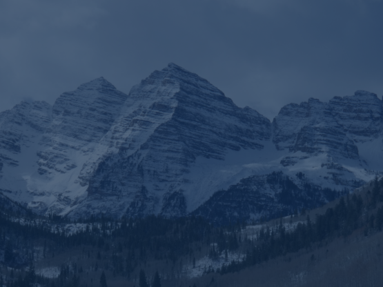
<svg viewBox="0 0 383 287">
<path fill-rule="evenodd" d="M 286 232 L 282 224 L 277 230 L 262 229 L 259 238 L 251 242 L 253 247 L 247 251 L 244 261 L 230 262 L 217 272 L 235 272 L 298 250 L 309 250 L 315 244 L 326 244 L 337 237 L 347 237 L 358 228 L 364 228 L 366 236 L 370 232 L 380 232 L 383 228 L 382 201 L 383 179 L 375 179 L 372 192 L 368 192 L 365 201 L 355 193 L 346 195 L 333 208 L 327 208 L 324 215 L 318 215 L 314 221 L 307 217 L 306 222 L 299 223 L 292 232 Z"/>
</svg>

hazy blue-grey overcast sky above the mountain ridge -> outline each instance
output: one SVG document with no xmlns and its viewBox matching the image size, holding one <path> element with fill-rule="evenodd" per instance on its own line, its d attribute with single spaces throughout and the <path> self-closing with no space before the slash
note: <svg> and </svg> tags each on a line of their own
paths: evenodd
<svg viewBox="0 0 383 287">
<path fill-rule="evenodd" d="M 0 0 L 0 111 L 169 62 L 273 119 L 287 103 L 383 94 L 380 0 Z"/>
</svg>

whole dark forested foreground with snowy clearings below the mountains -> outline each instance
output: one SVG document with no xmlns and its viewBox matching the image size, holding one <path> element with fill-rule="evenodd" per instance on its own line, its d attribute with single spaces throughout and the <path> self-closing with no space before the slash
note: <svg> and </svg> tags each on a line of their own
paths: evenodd
<svg viewBox="0 0 383 287">
<path fill-rule="evenodd" d="M 383 180 L 251 226 L 191 216 L 70 221 L 3 196 L 0 204 L 0 286 L 383 284 Z"/>
</svg>

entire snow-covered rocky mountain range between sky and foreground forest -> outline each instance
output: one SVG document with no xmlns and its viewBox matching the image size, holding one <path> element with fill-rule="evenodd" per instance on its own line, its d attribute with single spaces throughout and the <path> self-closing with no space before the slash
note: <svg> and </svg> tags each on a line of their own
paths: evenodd
<svg viewBox="0 0 383 287">
<path fill-rule="evenodd" d="M 258 221 L 352 192 L 382 162 L 371 92 L 291 103 L 270 121 L 173 63 L 128 95 L 101 77 L 0 113 L 0 191 L 39 215 Z"/>
</svg>

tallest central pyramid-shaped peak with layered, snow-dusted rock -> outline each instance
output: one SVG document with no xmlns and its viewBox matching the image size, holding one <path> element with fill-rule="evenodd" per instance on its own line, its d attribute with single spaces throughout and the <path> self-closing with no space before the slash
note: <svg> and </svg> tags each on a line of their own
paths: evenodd
<svg viewBox="0 0 383 287">
<path fill-rule="evenodd" d="M 114 213 L 110 206 L 119 201 L 118 212 L 131 216 L 185 215 L 206 199 L 195 197 L 195 179 L 188 179 L 196 159 L 262 150 L 270 127 L 255 110 L 238 108 L 205 79 L 170 64 L 132 88 L 110 129 L 121 143 L 97 166 L 82 203 L 87 207 L 79 210 Z"/>
</svg>

